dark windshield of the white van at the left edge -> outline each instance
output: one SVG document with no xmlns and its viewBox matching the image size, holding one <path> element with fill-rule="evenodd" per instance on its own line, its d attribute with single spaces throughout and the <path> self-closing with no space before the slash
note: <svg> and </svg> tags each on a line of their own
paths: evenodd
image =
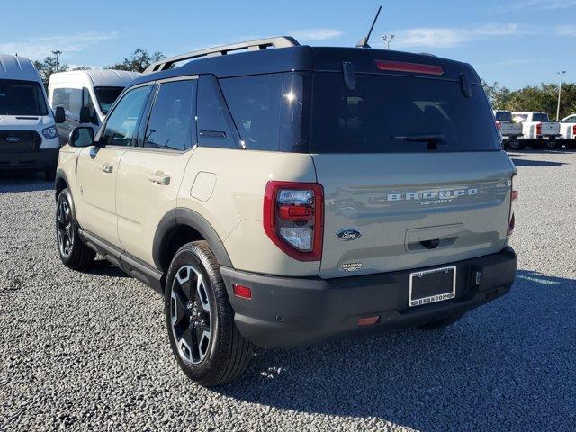
<svg viewBox="0 0 576 432">
<path fill-rule="evenodd" d="M 0 115 L 48 115 L 40 84 L 0 79 Z"/>
</svg>

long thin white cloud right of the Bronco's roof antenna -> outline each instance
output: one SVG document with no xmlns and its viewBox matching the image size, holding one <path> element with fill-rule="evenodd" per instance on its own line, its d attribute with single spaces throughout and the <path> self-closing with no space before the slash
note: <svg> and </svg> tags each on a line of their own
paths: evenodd
<svg viewBox="0 0 576 432">
<path fill-rule="evenodd" d="M 453 48 L 474 40 L 516 36 L 535 32 L 518 23 L 488 23 L 472 28 L 420 27 L 395 31 L 394 45 L 402 48 Z"/>
</svg>

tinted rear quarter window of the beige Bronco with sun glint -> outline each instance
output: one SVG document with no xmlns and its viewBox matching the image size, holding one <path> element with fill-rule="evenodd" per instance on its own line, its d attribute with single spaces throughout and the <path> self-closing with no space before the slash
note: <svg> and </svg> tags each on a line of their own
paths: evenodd
<svg viewBox="0 0 576 432">
<path fill-rule="evenodd" d="M 303 76 L 297 73 L 220 79 L 248 149 L 296 151 L 302 139 Z"/>
</svg>

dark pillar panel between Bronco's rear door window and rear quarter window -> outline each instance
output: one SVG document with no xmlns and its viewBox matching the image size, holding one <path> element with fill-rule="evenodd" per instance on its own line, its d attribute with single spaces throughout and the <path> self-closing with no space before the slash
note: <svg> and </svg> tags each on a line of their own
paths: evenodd
<svg viewBox="0 0 576 432">
<path fill-rule="evenodd" d="M 198 80 L 198 144 L 202 147 L 238 148 L 238 132 L 213 76 Z"/>
</svg>

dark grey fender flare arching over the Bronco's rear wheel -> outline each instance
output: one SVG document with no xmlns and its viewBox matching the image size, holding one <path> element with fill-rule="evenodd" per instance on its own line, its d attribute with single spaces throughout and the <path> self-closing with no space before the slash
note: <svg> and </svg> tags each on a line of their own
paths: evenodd
<svg viewBox="0 0 576 432">
<path fill-rule="evenodd" d="M 157 269 L 166 271 L 162 267 L 161 252 L 165 247 L 167 234 L 178 226 L 186 226 L 195 229 L 204 238 L 218 260 L 220 266 L 232 267 L 232 262 L 224 243 L 220 239 L 216 230 L 212 228 L 210 222 L 205 220 L 200 213 L 185 208 L 175 208 L 168 211 L 158 223 L 156 233 L 154 234 L 154 242 L 152 244 L 152 259 Z"/>
</svg>

